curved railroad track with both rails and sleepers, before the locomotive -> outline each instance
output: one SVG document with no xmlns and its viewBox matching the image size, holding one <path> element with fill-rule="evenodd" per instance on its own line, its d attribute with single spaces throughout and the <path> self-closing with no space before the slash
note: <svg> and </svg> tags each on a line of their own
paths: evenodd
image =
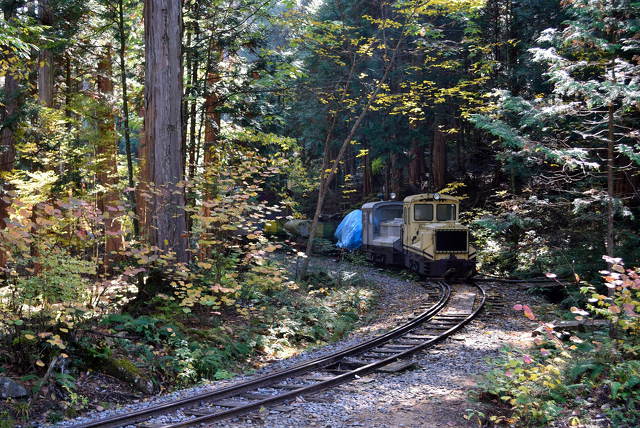
<svg viewBox="0 0 640 428">
<path fill-rule="evenodd" d="M 455 291 L 444 281 L 432 285 L 438 292 L 434 304 L 424 305 L 420 308 L 423 312 L 404 324 L 358 345 L 236 385 L 73 425 L 73 428 L 135 424 L 148 428 L 173 428 L 210 423 L 365 376 L 446 339 L 471 321 L 485 303 L 485 291 L 477 284 Z M 185 416 L 179 422 L 145 422 L 177 412 Z"/>
</svg>

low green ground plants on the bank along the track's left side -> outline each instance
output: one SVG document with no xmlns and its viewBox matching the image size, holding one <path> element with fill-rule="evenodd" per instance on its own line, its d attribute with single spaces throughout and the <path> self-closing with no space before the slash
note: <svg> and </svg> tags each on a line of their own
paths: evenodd
<svg viewBox="0 0 640 428">
<path fill-rule="evenodd" d="M 187 327 L 185 322 L 193 321 L 175 310 L 140 317 L 113 314 L 102 326 L 122 339 L 85 346 L 98 359 L 136 355 L 136 365 L 155 382 L 188 385 L 227 378 L 257 354 L 287 356 L 309 344 L 337 340 L 372 303 L 372 292 L 353 278 L 318 276 L 300 288 L 282 275 L 277 266 L 265 264 L 243 276 L 236 302 L 224 309 L 235 313 L 233 325 L 199 314 L 200 325 Z"/>
</svg>

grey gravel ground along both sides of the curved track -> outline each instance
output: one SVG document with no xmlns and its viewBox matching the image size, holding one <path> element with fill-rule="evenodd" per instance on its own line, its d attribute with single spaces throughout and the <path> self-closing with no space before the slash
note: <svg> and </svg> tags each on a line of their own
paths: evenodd
<svg viewBox="0 0 640 428">
<path fill-rule="evenodd" d="M 319 355 L 335 352 L 394 327 L 423 302 L 425 289 L 401 271 L 389 273 L 372 266 L 314 258 L 311 269 L 332 275 L 361 275 L 379 291 L 375 309 L 368 321 L 346 339 L 300 355 L 266 364 L 257 372 L 233 379 L 176 391 L 139 401 L 121 410 L 142 408 L 177 396 L 220 388 L 231 383 L 298 364 Z M 482 411 L 469 392 L 479 375 L 491 368 L 491 361 L 504 347 L 526 346 L 537 326 L 512 310 L 515 303 L 527 302 L 541 311 L 543 300 L 532 297 L 523 287 L 486 284 L 499 292 L 505 305 L 474 320 L 455 336 L 414 357 L 414 368 L 402 373 L 376 373 L 313 398 L 216 424 L 217 427 L 463 427 L 473 422 L 464 418 L 468 409 Z M 373 381 L 376 381 L 375 383 Z M 136 400 L 137 401 L 137 400 Z M 82 420 L 105 417 L 120 410 L 86 415 Z M 155 421 L 163 422 L 163 421 Z M 60 425 L 67 425 L 63 422 Z"/>
</svg>

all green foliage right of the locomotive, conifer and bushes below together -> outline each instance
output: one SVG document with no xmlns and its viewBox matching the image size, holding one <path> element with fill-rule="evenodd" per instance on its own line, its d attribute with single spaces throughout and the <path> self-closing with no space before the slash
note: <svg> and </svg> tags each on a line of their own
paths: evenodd
<svg viewBox="0 0 640 428">
<path fill-rule="evenodd" d="M 618 189 L 625 188 L 623 177 L 634 173 L 622 165 L 631 165 L 635 156 L 639 92 L 632 52 L 638 51 L 640 10 L 637 4 L 590 0 L 564 6 L 568 20 L 542 31 L 527 58 L 544 67 L 549 93 L 542 87 L 519 94 L 494 90 L 489 95 L 495 109 L 471 117 L 495 138 L 491 145 L 508 183 L 492 200 L 492 217 L 478 226 L 484 229 L 479 235 L 503 253 L 485 252 L 492 259 L 489 267 L 513 272 L 516 260 L 533 260 L 542 269 L 593 278 L 602 267 L 598 255 L 605 252 L 610 198 L 616 251 L 632 263 L 640 256 L 634 247 L 637 210 L 628 204 L 635 197 L 625 198 L 633 191 Z M 609 144 L 616 157 L 614 194 L 609 194 L 603 156 Z M 498 233 L 504 222 L 509 226 Z M 539 250 L 526 248 L 531 239 L 525 232 Z M 530 262 L 524 268 L 536 272 Z"/>
</svg>

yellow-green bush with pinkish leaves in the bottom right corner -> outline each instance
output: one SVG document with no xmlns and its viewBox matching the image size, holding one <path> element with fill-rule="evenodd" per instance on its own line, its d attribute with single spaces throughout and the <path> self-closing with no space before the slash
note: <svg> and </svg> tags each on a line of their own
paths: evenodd
<svg viewBox="0 0 640 428">
<path fill-rule="evenodd" d="M 494 404 L 491 422 L 577 426 L 601 413 L 613 426 L 640 424 L 640 270 L 625 269 L 620 259 L 607 261 L 611 270 L 602 272 L 602 284 L 582 282 L 586 308 L 571 308 L 578 320 L 604 319 L 607 325 L 563 341 L 543 323 L 545 336 L 534 339 L 531 350 L 505 350 L 479 384 L 479 398 Z M 535 319 L 526 305 L 514 309 Z"/>
</svg>

